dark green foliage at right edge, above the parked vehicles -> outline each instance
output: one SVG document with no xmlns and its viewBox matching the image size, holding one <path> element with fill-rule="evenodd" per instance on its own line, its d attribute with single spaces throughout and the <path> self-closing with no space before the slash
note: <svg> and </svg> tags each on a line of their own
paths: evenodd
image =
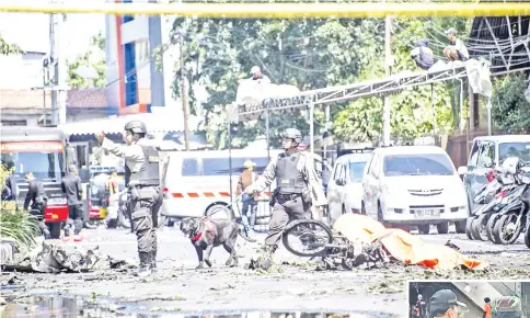
<svg viewBox="0 0 530 318">
<path fill-rule="evenodd" d="M 506 76 L 494 82 L 492 120 L 500 130 L 530 133 L 530 103 L 525 98 L 527 88 L 525 73 Z"/>
</svg>

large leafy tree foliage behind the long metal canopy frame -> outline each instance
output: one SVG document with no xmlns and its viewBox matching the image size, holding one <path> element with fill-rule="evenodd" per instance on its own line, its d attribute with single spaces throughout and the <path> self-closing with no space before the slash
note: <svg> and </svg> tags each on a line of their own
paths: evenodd
<svg viewBox="0 0 530 318">
<path fill-rule="evenodd" d="M 457 27 L 463 34 L 469 21 L 399 19 L 395 27 L 393 72 L 414 70 L 410 50 L 415 41 L 426 37 L 440 56 L 447 45 L 441 31 Z M 394 37 L 394 36 L 393 36 Z M 260 66 L 273 83 L 292 84 L 301 91 L 350 84 L 384 77 L 383 19 L 176 19 L 172 43 L 183 45 L 184 65 L 175 66 L 173 94 L 181 95 L 181 71 L 188 88 L 192 113 L 204 116 L 204 134 L 219 148 L 227 146 L 224 105 L 235 100 L 239 80 L 249 78 L 252 66 Z M 193 87 L 206 88 L 199 100 Z M 459 86 L 437 83 L 401 92 L 391 98 L 394 136 L 415 137 L 451 130 L 457 121 Z M 198 106 L 200 105 L 200 106 Z M 359 99 L 332 105 L 334 133 L 343 140 L 373 140 L 382 130 L 382 102 L 379 98 Z M 279 132 L 297 126 L 309 133 L 306 109 L 284 110 L 269 114 L 270 141 Z M 321 109 L 315 113 L 315 134 L 324 126 Z M 265 114 L 235 125 L 232 146 L 244 146 L 265 133 Z"/>
</svg>

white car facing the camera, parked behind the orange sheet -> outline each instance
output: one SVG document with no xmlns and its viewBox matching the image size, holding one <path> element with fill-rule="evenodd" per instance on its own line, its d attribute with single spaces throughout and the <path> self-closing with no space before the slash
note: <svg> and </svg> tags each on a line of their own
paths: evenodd
<svg viewBox="0 0 530 318">
<path fill-rule="evenodd" d="M 436 225 L 447 234 L 454 222 L 465 231 L 468 197 L 454 164 L 440 147 L 401 146 L 373 151 L 362 178 L 361 211 L 384 225 Z"/>
</svg>

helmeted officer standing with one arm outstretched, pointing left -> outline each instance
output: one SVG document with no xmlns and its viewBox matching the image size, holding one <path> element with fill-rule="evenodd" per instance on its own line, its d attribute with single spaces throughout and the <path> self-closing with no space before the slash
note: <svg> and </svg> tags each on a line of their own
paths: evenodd
<svg viewBox="0 0 530 318">
<path fill-rule="evenodd" d="M 102 147 L 125 157 L 125 184 L 130 193 L 132 225 L 138 240 L 140 266 L 138 276 L 148 276 L 157 271 L 157 234 L 158 213 L 163 196 L 160 189 L 159 154 L 152 146 L 143 145 L 147 134 L 146 125 L 131 121 L 125 125 L 125 143 L 116 145 L 105 138 L 105 133 L 96 135 Z"/>
</svg>

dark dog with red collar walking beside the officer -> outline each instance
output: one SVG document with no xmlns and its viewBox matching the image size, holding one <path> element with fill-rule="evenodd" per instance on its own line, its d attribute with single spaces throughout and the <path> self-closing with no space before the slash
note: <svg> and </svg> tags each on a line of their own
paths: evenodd
<svg viewBox="0 0 530 318">
<path fill-rule="evenodd" d="M 195 251 L 197 251 L 199 264 L 195 268 L 196 270 L 204 268 L 203 262 L 211 268 L 211 250 L 220 245 L 230 253 L 226 265 L 237 266 L 235 240 L 238 235 L 250 242 L 256 241 L 246 237 L 238 224 L 229 219 L 211 220 L 207 217 L 186 217 L 181 222 L 181 231 L 192 240 Z M 204 261 L 203 251 L 205 251 Z"/>
</svg>

